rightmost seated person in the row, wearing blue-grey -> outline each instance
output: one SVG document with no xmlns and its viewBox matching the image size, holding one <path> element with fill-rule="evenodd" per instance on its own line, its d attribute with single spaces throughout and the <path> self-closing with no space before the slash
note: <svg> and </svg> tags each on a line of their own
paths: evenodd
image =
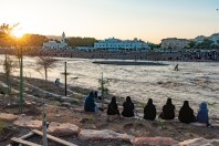
<svg viewBox="0 0 219 146">
<path fill-rule="evenodd" d="M 207 103 L 202 102 L 199 105 L 199 111 L 198 111 L 198 115 L 197 115 L 197 122 L 198 123 L 206 123 L 206 125 L 210 125 L 209 124 L 209 118 L 208 118 L 208 107 L 207 107 Z"/>
</svg>

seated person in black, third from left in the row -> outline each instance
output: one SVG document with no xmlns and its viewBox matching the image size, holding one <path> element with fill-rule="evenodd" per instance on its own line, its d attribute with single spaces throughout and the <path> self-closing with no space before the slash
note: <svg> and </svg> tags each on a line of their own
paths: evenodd
<svg viewBox="0 0 219 146">
<path fill-rule="evenodd" d="M 133 117 L 134 115 L 134 104 L 129 96 L 126 97 L 126 102 L 123 103 L 123 112 L 122 115 L 124 117 Z"/>
</svg>

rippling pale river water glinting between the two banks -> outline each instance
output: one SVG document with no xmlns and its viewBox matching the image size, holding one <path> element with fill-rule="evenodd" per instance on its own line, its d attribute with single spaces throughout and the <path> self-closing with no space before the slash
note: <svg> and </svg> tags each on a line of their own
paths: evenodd
<svg viewBox="0 0 219 146">
<path fill-rule="evenodd" d="M 24 75 L 42 79 L 44 72 L 35 71 L 35 60 L 36 58 L 24 58 Z M 160 62 L 169 65 L 149 66 L 94 64 L 94 60 L 59 59 L 56 66 L 49 71 L 49 80 L 60 77 L 61 82 L 64 81 L 64 61 L 67 61 L 67 81 L 72 85 L 96 90 L 103 72 L 104 79 L 109 81 L 111 93 L 115 95 L 129 95 L 140 102 L 150 97 L 159 107 L 166 103 L 167 97 L 174 98 L 178 107 L 182 101 L 188 100 L 195 111 L 201 101 L 207 101 L 211 114 L 219 112 L 218 63 Z M 174 71 L 176 64 L 179 64 L 179 71 Z M 2 71 L 2 66 L 0 69 Z M 14 75 L 19 75 L 19 70 Z"/>
</svg>

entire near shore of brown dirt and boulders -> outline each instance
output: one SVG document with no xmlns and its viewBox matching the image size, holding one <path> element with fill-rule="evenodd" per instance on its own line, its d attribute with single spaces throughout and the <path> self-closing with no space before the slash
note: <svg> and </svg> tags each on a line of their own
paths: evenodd
<svg viewBox="0 0 219 146">
<path fill-rule="evenodd" d="M 3 75 L 0 75 L 1 88 Z M 76 145 L 219 145 L 219 119 L 212 119 L 212 127 L 201 124 L 181 124 L 178 119 L 154 122 L 142 119 L 143 105 L 134 101 L 136 117 L 119 117 L 108 121 L 106 115 L 107 103 L 113 95 L 104 100 L 104 112 L 97 114 L 83 111 L 84 97 L 91 90 L 69 86 L 67 96 L 64 88 L 49 82 L 44 86 L 43 80 L 25 79 L 23 113 L 19 113 L 19 80 L 12 77 L 11 95 L 0 94 L 0 145 L 11 143 L 10 138 L 20 137 L 32 128 L 41 129 L 42 105 L 46 104 L 48 132 L 51 135 Z M 117 97 L 122 105 L 124 97 Z M 119 106 L 122 111 L 122 106 Z M 7 125 L 7 126 L 6 126 Z M 40 137 L 33 137 L 39 142 Z M 41 138 L 40 138 L 41 139 Z M 189 139 L 189 140 L 188 140 Z M 185 142 L 186 140 L 186 142 Z M 51 145 L 56 145 L 51 142 Z"/>
</svg>

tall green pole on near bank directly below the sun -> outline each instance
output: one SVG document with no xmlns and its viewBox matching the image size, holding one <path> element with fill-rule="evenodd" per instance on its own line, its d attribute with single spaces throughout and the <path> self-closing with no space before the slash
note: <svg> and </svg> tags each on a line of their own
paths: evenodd
<svg viewBox="0 0 219 146">
<path fill-rule="evenodd" d="M 20 48 L 20 104 L 19 112 L 22 113 L 23 108 L 23 50 Z"/>
</svg>

